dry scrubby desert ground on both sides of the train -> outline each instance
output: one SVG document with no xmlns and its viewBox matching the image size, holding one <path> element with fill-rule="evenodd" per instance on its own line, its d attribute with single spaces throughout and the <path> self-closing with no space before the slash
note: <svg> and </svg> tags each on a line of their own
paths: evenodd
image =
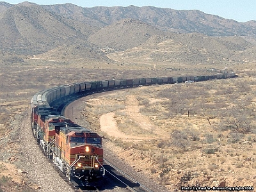
<svg viewBox="0 0 256 192">
<path fill-rule="evenodd" d="M 156 66 L 111 70 L 108 64 L 60 68 L 33 62 L 4 66 L 1 71 L 0 188 L 6 191 L 44 191 L 20 167 L 26 159 L 22 138 L 12 141 L 15 132 L 29 129 L 29 102 L 39 90 L 124 74 L 178 76 L 209 68 L 197 65 L 159 74 Z M 104 136 L 104 145 L 116 156 L 170 191 L 180 186 L 255 186 L 255 65 L 228 68 L 237 73 L 236 78 L 141 86 L 84 97 L 73 106 L 76 112 L 70 118 Z"/>
</svg>

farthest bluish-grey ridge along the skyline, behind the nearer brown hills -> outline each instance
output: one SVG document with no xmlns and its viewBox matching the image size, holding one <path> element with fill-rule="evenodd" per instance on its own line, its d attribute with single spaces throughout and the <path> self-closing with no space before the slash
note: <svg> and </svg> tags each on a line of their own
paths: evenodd
<svg viewBox="0 0 256 192">
<path fill-rule="evenodd" d="M 163 31 L 175 33 L 203 33 L 210 36 L 244 36 L 256 37 L 256 21 L 237 22 L 210 15 L 198 10 L 173 10 L 153 6 L 97 6 L 81 8 L 74 4 L 56 4 L 44 6 L 47 10 L 72 17 L 91 26 L 103 27 L 122 19 L 136 19 L 156 26 Z"/>
</svg>

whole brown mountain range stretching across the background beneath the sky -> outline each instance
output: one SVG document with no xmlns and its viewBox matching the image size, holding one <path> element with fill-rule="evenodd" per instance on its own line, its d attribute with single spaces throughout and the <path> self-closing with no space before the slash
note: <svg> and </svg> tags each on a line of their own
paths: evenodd
<svg viewBox="0 0 256 192">
<path fill-rule="evenodd" d="M 256 60 L 256 21 L 198 10 L 0 2 L 0 26 L 2 63 L 29 57 L 213 65 Z"/>
</svg>

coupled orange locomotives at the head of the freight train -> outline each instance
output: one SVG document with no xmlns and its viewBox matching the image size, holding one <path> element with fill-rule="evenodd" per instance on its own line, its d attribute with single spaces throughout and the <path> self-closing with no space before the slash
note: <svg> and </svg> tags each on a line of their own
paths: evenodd
<svg viewBox="0 0 256 192">
<path fill-rule="evenodd" d="M 77 178 L 88 184 L 104 176 L 102 138 L 97 133 L 33 99 L 31 124 L 38 143 L 68 179 Z"/>
</svg>

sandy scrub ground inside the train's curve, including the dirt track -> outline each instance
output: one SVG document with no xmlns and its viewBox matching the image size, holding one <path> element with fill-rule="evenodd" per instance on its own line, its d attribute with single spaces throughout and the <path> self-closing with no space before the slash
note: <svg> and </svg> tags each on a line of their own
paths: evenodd
<svg viewBox="0 0 256 192">
<path fill-rule="evenodd" d="M 223 125 L 230 120 L 225 118 L 228 113 L 255 112 L 253 94 L 247 89 L 234 93 L 242 91 L 244 80 L 167 84 L 95 95 L 79 102 L 84 104 L 79 120 L 81 124 L 89 120 L 102 132 L 106 145 L 115 144 L 116 156 L 170 191 L 180 186 L 254 186 L 255 134 Z M 234 81 L 237 85 L 232 86 L 230 100 L 227 95 Z M 251 102 L 244 106 L 246 97 Z M 253 117 L 249 119 L 253 127 Z"/>
</svg>

